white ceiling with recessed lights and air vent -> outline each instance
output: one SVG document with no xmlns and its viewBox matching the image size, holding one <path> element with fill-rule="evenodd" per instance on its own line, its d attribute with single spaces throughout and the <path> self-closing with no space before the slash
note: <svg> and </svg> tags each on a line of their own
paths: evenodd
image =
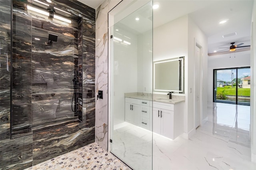
<svg viewBox="0 0 256 170">
<path fill-rule="evenodd" d="M 97 8 L 102 2 L 102 0 L 79 1 L 92 8 Z M 250 45 L 253 0 L 154 0 L 153 3 L 159 4 L 159 8 L 153 11 L 154 28 L 188 14 L 208 37 L 208 55 L 229 53 L 228 48 L 219 53 L 218 51 L 223 50 L 220 47 L 230 47 L 231 42 L 235 42 L 235 45 L 244 43 L 241 46 Z M 147 24 L 152 25 L 152 12 L 142 12 L 139 15 L 145 19 L 144 27 L 133 29 L 144 32 L 148 28 Z M 222 20 L 227 22 L 219 24 Z M 133 22 L 136 21 L 124 19 L 122 24 L 132 28 L 137 25 Z M 222 37 L 233 33 L 236 35 Z M 249 49 L 237 48 L 236 51 Z"/>
</svg>

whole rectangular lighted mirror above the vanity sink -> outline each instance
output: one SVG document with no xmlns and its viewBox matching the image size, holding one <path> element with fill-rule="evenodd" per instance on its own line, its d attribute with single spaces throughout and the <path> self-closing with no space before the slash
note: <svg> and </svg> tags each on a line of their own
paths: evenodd
<svg viewBox="0 0 256 170">
<path fill-rule="evenodd" d="M 154 61 L 154 92 L 184 93 L 184 56 Z"/>
</svg>

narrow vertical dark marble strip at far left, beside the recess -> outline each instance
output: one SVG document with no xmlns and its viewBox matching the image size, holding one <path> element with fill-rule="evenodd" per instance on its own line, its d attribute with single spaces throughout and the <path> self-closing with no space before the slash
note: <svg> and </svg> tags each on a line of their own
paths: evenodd
<svg viewBox="0 0 256 170">
<path fill-rule="evenodd" d="M 0 140 L 10 138 L 10 4 L 10 0 L 0 0 Z M 2 153 L 0 152 L 1 158 Z"/>
</svg>

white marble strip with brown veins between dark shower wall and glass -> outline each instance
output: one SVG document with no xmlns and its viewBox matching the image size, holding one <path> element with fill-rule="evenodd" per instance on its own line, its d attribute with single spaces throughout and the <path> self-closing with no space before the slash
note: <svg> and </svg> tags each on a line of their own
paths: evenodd
<svg viewBox="0 0 256 170">
<path fill-rule="evenodd" d="M 96 10 L 96 94 L 103 90 L 103 99 L 96 101 L 96 142 L 108 150 L 108 12 L 121 0 L 105 0 Z"/>
</svg>

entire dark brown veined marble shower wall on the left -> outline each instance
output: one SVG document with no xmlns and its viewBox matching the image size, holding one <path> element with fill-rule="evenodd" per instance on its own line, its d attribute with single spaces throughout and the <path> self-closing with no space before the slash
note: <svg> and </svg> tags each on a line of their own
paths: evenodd
<svg viewBox="0 0 256 170">
<path fill-rule="evenodd" d="M 84 25 L 86 26 L 85 27 L 86 30 L 82 31 L 82 28 L 81 27 L 79 28 L 79 26 L 76 26 L 76 28 L 75 27 L 72 28 L 73 27 L 72 24 L 70 25 L 70 27 L 60 26 L 59 24 L 56 24 L 56 23 L 54 24 L 53 22 L 46 22 L 44 20 L 41 20 L 40 18 L 36 18 L 33 15 L 27 14 L 26 3 L 30 3 L 32 2 L 32 0 L 25 0 L 25 1 L 12 0 L 12 2 L 14 5 L 13 6 L 14 7 L 14 11 L 13 11 L 13 15 L 14 15 L 13 52 L 14 53 L 12 55 L 14 59 L 14 62 L 12 63 L 13 68 L 11 68 L 11 65 L 10 65 L 10 58 L 11 58 L 10 49 L 11 48 L 8 47 L 8 45 L 10 45 L 11 21 L 8 19 L 5 19 L 5 20 L 3 19 L 4 17 L 11 18 L 10 16 L 11 0 L 0 0 L 0 9 L 1 9 L 0 10 L 0 19 L 1 19 L 0 41 L 1 41 L 1 47 L 2 45 L 6 45 L 5 47 L 7 47 L 5 50 L 6 52 L 3 51 L 3 49 L 1 49 L 0 51 L 1 53 L 0 54 L 0 62 L 1 62 L 1 65 L 0 65 L 0 68 L 1 68 L 0 69 L 0 75 L 1 75 L 1 79 L 0 79 L 0 104 L 1 104 L 1 107 L 0 107 L 0 169 L 20 170 L 20 169 L 28 168 L 32 166 L 32 164 L 38 164 L 40 162 L 43 162 L 44 160 L 48 160 L 50 158 L 54 158 L 55 156 L 59 156 L 66 152 L 70 152 L 76 148 L 81 148 L 82 146 L 85 146 L 95 141 L 95 95 L 93 91 L 95 88 L 93 87 L 93 84 L 94 84 L 93 81 L 95 81 L 95 74 L 93 72 L 94 69 L 92 69 L 92 67 L 94 66 L 91 66 L 91 65 L 95 65 L 95 61 L 92 59 L 93 57 L 95 57 L 95 10 L 80 2 L 76 2 L 74 0 L 72 1 L 52 0 L 54 6 L 56 6 L 57 8 L 61 8 L 62 10 L 68 11 L 72 15 L 79 16 L 79 17 L 72 18 L 72 20 L 78 20 L 77 18 L 83 18 L 82 19 L 84 23 L 83 26 Z M 31 26 L 31 19 L 32 19 L 32 24 L 34 24 L 33 26 Z M 15 28 L 17 29 L 15 30 Z M 70 40 L 70 38 L 73 40 L 80 38 L 80 40 L 78 40 L 78 43 L 72 43 L 71 45 L 78 46 L 78 55 L 76 54 L 76 56 L 83 57 L 83 59 L 81 58 L 76 61 L 74 60 L 72 61 L 72 59 L 74 59 L 74 56 L 75 56 L 73 54 L 73 55 L 65 55 L 65 57 L 68 56 L 66 58 L 67 60 L 61 61 L 60 58 L 64 55 L 56 57 L 56 54 L 58 54 L 58 52 L 51 54 L 52 51 L 49 51 L 48 56 L 50 56 L 52 59 L 59 59 L 58 66 L 62 66 L 65 69 L 72 69 L 72 71 L 74 71 L 75 65 L 70 66 L 67 63 L 69 63 L 69 61 L 77 62 L 76 69 L 78 69 L 79 76 L 81 76 L 79 81 L 80 88 L 79 88 L 78 97 L 80 99 L 84 98 L 84 101 L 82 101 L 83 105 L 81 105 L 82 103 L 79 103 L 80 107 L 83 107 L 83 122 L 72 123 L 72 125 L 66 125 L 64 127 L 55 128 L 55 129 L 44 131 L 44 132 L 38 132 L 36 134 L 10 139 L 10 72 L 8 72 L 8 69 L 9 71 L 10 70 L 14 71 L 13 76 L 16 78 L 14 79 L 14 83 L 13 83 L 13 87 L 15 87 L 16 89 L 14 88 L 15 91 L 12 94 L 14 99 L 13 101 L 14 102 L 14 105 L 13 105 L 14 118 L 16 118 L 15 116 L 17 116 L 17 118 L 14 119 L 14 121 L 16 121 L 15 123 L 17 124 L 24 122 L 24 127 L 20 127 L 20 129 L 17 129 L 17 133 L 19 134 L 21 130 L 24 130 L 26 132 L 27 130 L 25 128 L 26 126 L 27 127 L 30 126 L 31 128 L 31 120 L 30 120 L 30 123 L 29 121 L 26 122 L 26 120 L 29 120 L 32 117 L 31 115 L 28 115 L 27 112 L 24 112 L 24 110 L 29 108 L 29 106 L 28 108 L 25 108 L 22 104 L 25 104 L 25 105 L 29 104 L 30 110 L 31 110 L 31 102 L 32 102 L 31 99 L 33 99 L 33 96 L 36 95 L 37 93 L 36 91 L 38 90 L 38 88 L 39 89 L 41 88 L 41 90 L 43 90 L 45 87 L 45 83 L 42 83 L 42 82 L 38 83 L 40 85 L 36 85 L 36 83 L 34 83 L 34 86 L 32 86 L 33 76 L 31 73 L 26 73 L 26 71 L 30 69 L 30 72 L 32 72 L 32 70 L 33 71 L 39 70 L 39 72 L 41 70 L 41 71 L 47 72 L 47 69 L 49 69 L 48 71 L 50 72 L 50 71 L 55 71 L 53 70 L 54 67 L 57 68 L 56 65 L 51 63 L 48 60 L 48 58 L 45 55 L 42 55 L 42 53 L 40 53 L 39 51 L 34 52 L 36 53 L 36 55 L 34 58 L 32 57 L 31 47 L 32 47 L 32 44 L 34 43 L 32 41 L 35 41 L 31 39 L 32 38 L 31 29 L 33 28 L 36 28 L 38 30 L 40 29 L 48 30 L 49 32 L 57 32 L 56 34 L 61 34 L 61 36 L 68 37 L 67 38 L 68 40 Z M 73 37 L 70 36 L 72 34 L 74 35 Z M 80 34 L 80 36 L 78 34 Z M 46 37 L 44 40 L 46 40 L 47 42 L 47 39 L 48 38 Z M 54 42 L 55 45 L 58 45 L 57 43 Z M 45 45 L 41 44 L 39 45 L 38 49 L 43 49 L 44 46 Z M 68 47 L 68 49 L 70 48 Z M 40 57 L 40 59 L 42 59 L 43 62 L 41 62 L 40 59 L 36 57 Z M 9 59 L 8 59 L 8 64 L 6 65 L 7 58 Z M 30 65 L 28 64 L 29 59 L 30 59 Z M 90 61 L 92 61 L 92 63 L 90 63 Z M 91 67 L 89 67 L 89 69 L 82 70 L 84 69 L 84 67 L 82 67 L 82 63 L 86 63 Z M 92 71 L 92 73 L 90 71 Z M 28 79 L 28 77 L 30 77 L 30 79 Z M 46 73 L 46 77 L 47 77 L 47 73 Z M 67 77 L 72 77 L 72 76 L 68 75 Z M 40 80 L 38 79 L 40 77 L 33 77 L 33 78 L 35 78 L 34 79 L 35 81 Z M 66 77 L 63 75 L 61 76 L 56 75 L 54 73 L 54 76 L 52 75 L 52 77 L 48 79 L 51 81 L 52 80 L 55 81 L 56 79 L 60 80 L 58 81 L 58 85 L 62 86 L 62 88 L 61 90 L 59 89 L 58 93 L 55 93 L 54 97 L 60 100 L 58 106 L 60 106 L 60 103 L 62 102 L 61 99 L 63 99 L 62 103 L 67 108 L 68 106 L 65 105 L 65 100 L 70 99 L 69 93 L 73 93 L 73 91 L 71 87 L 66 87 L 68 86 L 68 83 L 66 83 L 67 81 Z M 24 89 L 25 86 L 24 85 L 22 86 L 19 84 L 19 82 L 21 81 L 27 81 L 25 83 L 29 84 L 27 89 L 29 89 L 28 91 L 30 91 L 30 101 L 26 96 L 28 92 Z M 6 83 L 6 85 L 4 83 Z M 51 92 L 53 92 L 54 90 L 54 85 L 53 85 L 54 83 L 52 83 L 52 86 L 50 86 L 50 83 L 49 83 L 48 88 L 52 89 Z M 72 86 L 72 83 L 71 83 L 71 86 Z M 87 85 L 86 83 L 90 85 L 90 89 L 88 90 L 92 90 L 92 92 L 90 91 L 88 92 L 93 94 L 82 96 L 83 95 L 82 85 L 83 84 Z M 34 93 L 32 93 L 32 91 Z M 62 95 L 64 91 L 69 91 L 69 92 L 67 92 L 65 95 Z M 51 100 L 51 97 L 53 97 L 52 93 L 45 94 L 45 96 L 43 95 L 42 98 L 40 97 L 38 98 L 42 100 L 45 100 L 45 99 Z M 22 100 L 20 98 L 22 98 Z M 35 107 L 35 109 L 37 108 Z M 60 109 L 60 108 L 57 107 L 57 109 Z M 29 113 L 31 113 L 31 111 Z M 26 134 L 29 134 L 29 132 L 30 131 L 26 132 Z"/>
</svg>

